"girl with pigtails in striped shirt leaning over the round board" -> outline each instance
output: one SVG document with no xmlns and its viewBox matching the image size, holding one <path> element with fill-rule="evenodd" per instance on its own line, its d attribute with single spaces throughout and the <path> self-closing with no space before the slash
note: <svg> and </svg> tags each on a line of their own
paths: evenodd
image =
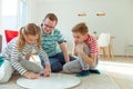
<svg viewBox="0 0 133 89">
<path fill-rule="evenodd" d="M 45 63 L 44 67 L 40 67 L 28 60 L 28 56 L 32 50 L 37 50 L 37 53 L 43 57 Z M 19 37 L 12 39 L 8 43 L 2 51 L 2 57 L 4 62 L 1 66 L 2 72 L 0 72 L 0 82 L 7 82 L 14 70 L 29 79 L 39 78 L 38 73 L 42 72 L 42 70 L 44 76 L 50 75 L 51 68 L 49 59 L 41 48 L 41 30 L 34 23 L 28 23 L 20 29 Z"/>
</svg>

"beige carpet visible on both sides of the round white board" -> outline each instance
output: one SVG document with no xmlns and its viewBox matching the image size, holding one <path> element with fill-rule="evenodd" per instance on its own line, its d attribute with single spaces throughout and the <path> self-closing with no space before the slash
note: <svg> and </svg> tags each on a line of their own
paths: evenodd
<svg viewBox="0 0 133 89">
<path fill-rule="evenodd" d="M 93 73 L 89 77 L 80 78 L 81 83 L 72 89 L 120 89 L 114 79 L 109 76 L 102 65 L 98 68 L 101 70 L 101 75 Z M 20 76 L 14 75 L 8 83 L 0 85 L 0 89 L 24 89 L 16 85 L 18 78 L 20 78 Z"/>
</svg>

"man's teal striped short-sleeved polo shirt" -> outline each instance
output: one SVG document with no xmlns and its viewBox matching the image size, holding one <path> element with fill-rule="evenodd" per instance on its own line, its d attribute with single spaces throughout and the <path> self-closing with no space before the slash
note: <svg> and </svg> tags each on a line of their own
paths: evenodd
<svg viewBox="0 0 133 89">
<path fill-rule="evenodd" d="M 61 32 L 57 29 L 53 29 L 51 34 L 45 34 L 42 31 L 42 49 L 47 52 L 49 57 L 55 56 L 61 52 L 59 43 L 64 42 L 64 38 Z"/>
</svg>

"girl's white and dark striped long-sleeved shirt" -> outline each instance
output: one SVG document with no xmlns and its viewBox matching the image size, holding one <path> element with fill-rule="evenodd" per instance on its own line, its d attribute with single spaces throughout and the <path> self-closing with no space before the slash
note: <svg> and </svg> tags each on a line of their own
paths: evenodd
<svg viewBox="0 0 133 89">
<path fill-rule="evenodd" d="M 37 50 L 37 53 L 42 56 L 43 59 L 44 59 L 44 62 L 45 65 L 49 65 L 49 59 L 48 59 L 48 56 L 47 53 L 43 51 L 42 48 L 38 49 L 38 46 L 37 44 L 28 44 L 25 43 L 24 48 L 22 51 L 19 51 L 18 50 L 18 46 L 17 46 L 17 39 L 18 38 L 14 38 L 12 39 L 8 46 L 4 48 L 3 52 L 2 52 L 2 56 L 9 60 L 11 62 L 11 66 L 20 73 L 20 75 L 23 75 L 27 69 L 23 68 L 19 61 L 22 60 L 22 58 L 27 55 L 27 53 L 31 53 L 31 51 L 33 49 Z"/>
</svg>

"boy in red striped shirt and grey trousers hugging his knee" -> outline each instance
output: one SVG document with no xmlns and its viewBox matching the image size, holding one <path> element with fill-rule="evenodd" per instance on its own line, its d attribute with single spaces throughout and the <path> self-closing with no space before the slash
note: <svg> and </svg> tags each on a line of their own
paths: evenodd
<svg viewBox="0 0 133 89">
<path fill-rule="evenodd" d="M 75 39 L 73 55 L 78 59 L 63 66 L 63 71 L 68 73 L 78 72 L 78 77 L 89 76 L 90 72 L 100 73 L 94 69 L 100 59 L 96 39 L 89 34 L 89 29 L 84 22 L 78 23 L 72 29 Z"/>
</svg>

